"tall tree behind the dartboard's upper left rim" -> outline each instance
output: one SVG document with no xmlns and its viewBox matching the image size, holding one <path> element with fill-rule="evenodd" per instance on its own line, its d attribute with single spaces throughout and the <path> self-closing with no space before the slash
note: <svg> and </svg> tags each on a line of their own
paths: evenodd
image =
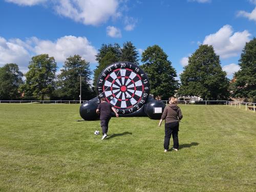
<svg viewBox="0 0 256 192">
<path fill-rule="evenodd" d="M 101 48 L 98 51 L 99 53 L 96 55 L 96 61 L 98 61 L 99 65 L 94 70 L 94 79 L 93 79 L 93 85 L 95 87 L 97 86 L 97 80 L 102 69 L 104 69 L 106 66 L 110 65 L 111 63 L 120 61 L 120 58 L 121 58 L 121 47 L 117 43 L 115 43 L 114 45 L 102 44 Z"/>
</svg>

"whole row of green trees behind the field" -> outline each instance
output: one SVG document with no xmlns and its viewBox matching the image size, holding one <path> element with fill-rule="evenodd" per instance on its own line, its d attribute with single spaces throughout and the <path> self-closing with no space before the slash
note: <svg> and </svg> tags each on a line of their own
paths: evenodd
<svg viewBox="0 0 256 192">
<path fill-rule="evenodd" d="M 138 58 L 136 47 L 128 41 L 123 47 L 118 43 L 102 44 L 96 55 L 98 65 L 94 71 L 79 55 L 67 58 L 59 74 L 56 74 L 54 57 L 48 54 L 32 57 L 26 74 L 17 64 L 7 63 L 0 67 L 0 100 L 79 100 L 80 78 L 81 99 L 90 100 L 98 94 L 94 87 L 103 68 L 118 61 L 139 65 Z M 205 100 L 227 100 L 231 96 L 256 102 L 256 38 L 246 43 L 238 63 L 240 70 L 231 81 L 226 78 L 220 57 L 211 45 L 200 45 L 188 58 L 180 82 L 176 80 L 177 72 L 172 62 L 160 46 L 148 46 L 140 61 L 140 67 L 150 80 L 151 94 L 162 100 L 176 94 Z"/>
</svg>

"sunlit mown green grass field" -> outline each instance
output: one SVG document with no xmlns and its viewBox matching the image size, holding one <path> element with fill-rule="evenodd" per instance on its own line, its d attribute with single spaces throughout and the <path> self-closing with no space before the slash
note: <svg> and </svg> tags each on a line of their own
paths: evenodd
<svg viewBox="0 0 256 192">
<path fill-rule="evenodd" d="M 79 107 L 0 104 L 0 191 L 256 190 L 253 112 L 180 106 L 180 149 L 164 153 L 159 121 L 113 117 L 101 140 Z"/>
</svg>

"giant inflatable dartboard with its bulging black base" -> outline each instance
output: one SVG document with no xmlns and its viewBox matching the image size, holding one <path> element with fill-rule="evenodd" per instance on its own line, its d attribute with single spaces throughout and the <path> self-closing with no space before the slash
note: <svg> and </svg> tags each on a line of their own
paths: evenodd
<svg viewBox="0 0 256 192">
<path fill-rule="evenodd" d="M 98 77 L 97 90 L 99 98 L 80 107 L 80 115 L 85 120 L 97 118 L 95 111 L 101 98 L 111 103 L 119 116 L 160 119 L 165 107 L 163 102 L 149 98 L 150 82 L 144 71 L 131 62 L 117 62 L 104 68 Z"/>
</svg>

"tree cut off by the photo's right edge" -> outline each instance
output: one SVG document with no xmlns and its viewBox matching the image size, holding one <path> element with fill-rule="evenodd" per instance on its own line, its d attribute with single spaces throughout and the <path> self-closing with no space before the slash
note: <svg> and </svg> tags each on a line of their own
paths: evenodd
<svg viewBox="0 0 256 192">
<path fill-rule="evenodd" d="M 256 38 L 245 44 L 239 60 L 240 70 L 234 74 L 233 95 L 256 102 Z"/>
</svg>

